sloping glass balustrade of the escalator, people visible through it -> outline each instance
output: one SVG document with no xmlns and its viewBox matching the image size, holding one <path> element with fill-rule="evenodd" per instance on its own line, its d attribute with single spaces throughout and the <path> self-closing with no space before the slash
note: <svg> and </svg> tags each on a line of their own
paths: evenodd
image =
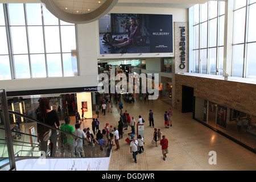
<svg viewBox="0 0 256 182">
<path fill-rule="evenodd" d="M 9 148 L 15 159 L 40 158 L 41 156 L 46 156 L 46 158 L 104 158 L 109 156 L 111 148 L 109 140 L 104 141 L 105 145 L 102 146 L 104 142 L 101 137 L 96 138 L 96 135 L 87 133 L 87 139 L 80 138 L 76 136 L 76 133 L 69 134 L 27 115 L 4 109 L 3 94 L 5 92 L 2 92 L 0 96 L 0 167 L 9 163 Z M 4 117 L 5 115 L 8 117 Z M 9 125 L 9 134 L 6 134 L 5 122 L 9 122 L 6 123 Z M 43 141 L 41 135 L 38 137 L 38 127 L 51 129 L 52 134 L 47 141 Z"/>
</svg>

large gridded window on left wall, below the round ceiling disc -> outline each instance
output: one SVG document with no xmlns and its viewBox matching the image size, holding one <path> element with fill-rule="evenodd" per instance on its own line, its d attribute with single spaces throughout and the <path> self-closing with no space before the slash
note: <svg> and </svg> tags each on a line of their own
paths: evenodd
<svg viewBox="0 0 256 182">
<path fill-rule="evenodd" d="M 0 80 L 77 76 L 76 26 L 40 3 L 0 3 Z"/>
</svg>

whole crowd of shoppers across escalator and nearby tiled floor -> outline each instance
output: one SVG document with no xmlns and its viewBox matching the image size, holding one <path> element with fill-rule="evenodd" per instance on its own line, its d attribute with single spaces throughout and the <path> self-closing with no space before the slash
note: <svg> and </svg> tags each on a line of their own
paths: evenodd
<svg viewBox="0 0 256 182">
<path fill-rule="evenodd" d="M 109 102 L 110 103 L 110 102 Z M 96 110 L 97 111 L 97 110 Z M 165 126 L 171 125 L 171 120 L 172 120 L 172 110 L 169 109 L 169 112 L 164 114 L 164 121 L 165 121 Z M 123 129 L 127 130 L 128 126 L 131 127 L 131 133 L 129 133 L 130 137 L 130 151 L 133 153 L 133 158 L 134 161 L 137 163 L 136 155 L 138 152 L 144 152 L 144 141 L 141 135 L 139 135 L 138 139 L 134 137 L 135 134 L 135 119 L 134 117 L 130 117 L 130 114 L 127 113 L 127 110 L 125 110 L 125 113 L 122 113 L 122 109 L 120 109 L 120 119 L 118 121 L 118 126 L 114 127 L 110 126 L 109 123 L 106 123 L 106 126 L 104 129 L 99 130 L 99 125 L 100 122 L 98 121 L 98 118 L 93 118 L 92 121 L 92 131 L 93 133 L 90 132 L 90 129 L 80 129 L 81 122 L 79 122 L 79 117 L 76 117 L 76 124 L 75 124 L 75 130 L 73 126 L 69 125 L 71 122 L 71 119 L 69 117 L 65 118 L 65 123 L 61 123 L 57 117 L 56 111 L 51 110 L 49 106 L 49 100 L 47 98 L 42 98 L 39 103 L 39 113 L 37 119 L 40 122 L 43 122 L 49 126 L 56 127 L 62 131 L 63 133 L 60 132 L 60 134 L 57 134 L 56 130 L 52 130 L 51 137 L 49 140 L 51 140 L 51 156 L 56 155 L 56 144 L 57 140 L 59 138 L 59 147 L 61 151 L 61 155 L 65 156 L 85 156 L 84 155 L 84 147 L 83 145 L 85 144 L 84 142 L 87 141 L 90 145 L 93 144 L 99 144 L 102 147 L 106 147 L 108 144 L 108 140 L 110 141 L 110 144 L 112 146 L 116 146 L 115 151 L 120 150 L 120 145 L 119 145 L 119 139 L 123 138 Z M 150 123 L 150 126 L 154 127 L 154 117 L 153 117 L 153 112 L 150 110 L 150 113 L 148 114 L 148 121 Z M 168 121 L 168 122 L 167 122 Z M 139 115 L 138 119 L 138 124 L 143 124 L 143 119 L 141 115 Z M 38 142 L 40 143 L 40 150 L 47 152 L 47 141 L 43 140 L 43 134 L 46 133 L 46 131 L 49 130 L 49 127 L 42 125 L 38 123 Z M 66 135 L 65 133 L 69 133 L 72 135 Z M 157 146 L 157 141 L 160 140 L 161 138 L 161 132 L 160 129 L 155 129 L 154 131 L 154 140 L 155 144 Z M 76 137 L 74 137 L 75 135 Z M 94 135 L 96 137 L 94 138 Z M 83 138 L 85 140 L 83 140 Z M 162 146 L 163 150 L 163 159 L 165 160 L 166 154 L 168 154 L 168 140 L 163 136 L 163 139 L 160 140 L 160 145 Z M 135 148 L 137 147 L 137 150 Z"/>
</svg>

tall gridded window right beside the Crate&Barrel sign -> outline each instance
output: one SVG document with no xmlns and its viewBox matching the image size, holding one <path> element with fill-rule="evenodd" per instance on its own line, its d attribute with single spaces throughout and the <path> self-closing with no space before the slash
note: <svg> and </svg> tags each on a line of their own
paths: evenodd
<svg viewBox="0 0 256 182">
<path fill-rule="evenodd" d="M 216 75 L 224 60 L 225 2 L 209 1 L 192 9 L 193 72 Z"/>
</svg>

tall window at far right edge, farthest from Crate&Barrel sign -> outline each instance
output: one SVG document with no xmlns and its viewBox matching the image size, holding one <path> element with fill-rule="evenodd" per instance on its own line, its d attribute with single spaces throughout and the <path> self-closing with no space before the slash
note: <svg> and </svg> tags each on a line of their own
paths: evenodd
<svg viewBox="0 0 256 182">
<path fill-rule="evenodd" d="M 234 0 L 232 76 L 256 78 L 256 1 Z"/>
</svg>

